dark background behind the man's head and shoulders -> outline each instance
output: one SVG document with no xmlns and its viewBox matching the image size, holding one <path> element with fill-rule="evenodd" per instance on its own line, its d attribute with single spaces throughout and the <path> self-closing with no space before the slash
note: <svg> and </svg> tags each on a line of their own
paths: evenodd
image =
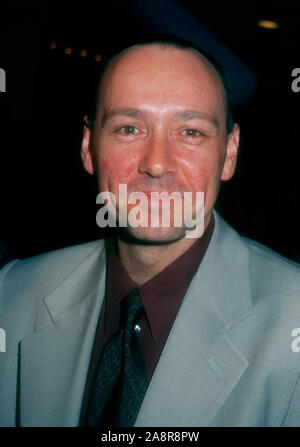
<svg viewBox="0 0 300 447">
<path fill-rule="evenodd" d="M 215 36 L 216 52 L 233 73 L 242 141 L 237 173 L 222 186 L 217 209 L 243 235 L 300 262 L 300 92 L 291 89 L 292 70 L 300 67 L 300 2 L 173 3 L 173 12 L 159 0 L 1 6 L 7 92 L 0 93 L 0 239 L 8 255 L 26 257 L 103 235 L 95 221 L 95 181 L 80 160 L 82 118 L 100 66 L 94 56 L 103 58 L 155 26 L 164 32 L 173 26 L 177 34 L 188 29 L 196 43 L 201 37 L 203 47 L 214 45 Z M 178 6 L 194 27 L 185 28 Z M 279 28 L 260 28 L 261 19 Z"/>
</svg>

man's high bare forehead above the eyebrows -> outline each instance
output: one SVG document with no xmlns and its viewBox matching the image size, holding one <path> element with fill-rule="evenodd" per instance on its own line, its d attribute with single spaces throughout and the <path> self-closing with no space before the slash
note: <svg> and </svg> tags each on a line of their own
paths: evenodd
<svg viewBox="0 0 300 447">
<path fill-rule="evenodd" d="M 193 109 L 224 114 L 224 89 L 209 61 L 190 49 L 151 44 L 132 47 L 106 70 L 98 107 Z"/>
</svg>

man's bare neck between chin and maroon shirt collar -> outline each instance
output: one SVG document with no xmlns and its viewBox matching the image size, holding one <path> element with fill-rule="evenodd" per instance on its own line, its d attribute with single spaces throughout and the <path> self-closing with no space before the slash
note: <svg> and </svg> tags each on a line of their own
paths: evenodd
<svg viewBox="0 0 300 447">
<path fill-rule="evenodd" d="M 206 222 L 205 229 L 207 228 Z M 163 245 L 143 245 L 117 237 L 119 259 L 128 276 L 141 286 L 187 251 L 196 239 L 183 237 Z"/>
</svg>

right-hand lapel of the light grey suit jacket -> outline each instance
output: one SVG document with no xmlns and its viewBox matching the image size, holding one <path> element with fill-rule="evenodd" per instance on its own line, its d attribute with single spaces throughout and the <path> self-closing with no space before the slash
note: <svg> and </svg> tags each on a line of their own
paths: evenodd
<svg viewBox="0 0 300 447">
<path fill-rule="evenodd" d="M 136 426 L 207 426 L 248 361 L 227 331 L 251 314 L 248 250 L 216 227 L 153 374 Z"/>
</svg>

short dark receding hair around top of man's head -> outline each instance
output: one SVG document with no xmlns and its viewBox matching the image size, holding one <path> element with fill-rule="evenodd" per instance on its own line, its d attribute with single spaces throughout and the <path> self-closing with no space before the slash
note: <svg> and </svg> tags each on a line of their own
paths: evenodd
<svg viewBox="0 0 300 447">
<path fill-rule="evenodd" d="M 226 131 L 228 134 L 232 132 L 233 125 L 234 125 L 234 118 L 233 118 L 233 111 L 232 111 L 232 94 L 231 94 L 231 86 L 230 82 L 227 76 L 227 73 L 223 66 L 218 62 L 211 54 L 209 54 L 207 51 L 203 50 L 202 48 L 198 47 L 194 43 L 183 39 L 178 36 L 173 36 L 169 34 L 159 34 L 155 35 L 154 37 L 149 37 L 147 39 L 139 40 L 136 42 L 133 42 L 131 45 L 127 46 L 126 48 L 123 48 L 119 50 L 117 53 L 110 56 L 108 59 L 104 60 L 102 62 L 102 65 L 100 67 L 100 72 L 98 73 L 98 78 L 96 82 L 96 86 L 94 88 L 94 94 L 93 94 L 93 100 L 92 100 L 92 107 L 91 107 L 91 113 L 89 115 L 89 125 L 91 127 L 94 126 L 96 114 L 97 114 L 97 105 L 98 105 L 98 89 L 100 88 L 101 80 L 108 69 L 108 67 L 123 53 L 125 53 L 127 50 L 135 47 L 143 47 L 148 45 L 159 45 L 162 47 L 171 47 L 171 48 L 178 48 L 180 50 L 192 50 L 196 52 L 200 56 L 204 56 L 214 67 L 216 72 L 219 75 L 219 78 L 221 80 L 221 83 L 223 85 L 224 89 L 224 99 L 225 99 L 225 113 L 226 113 Z"/>
</svg>

